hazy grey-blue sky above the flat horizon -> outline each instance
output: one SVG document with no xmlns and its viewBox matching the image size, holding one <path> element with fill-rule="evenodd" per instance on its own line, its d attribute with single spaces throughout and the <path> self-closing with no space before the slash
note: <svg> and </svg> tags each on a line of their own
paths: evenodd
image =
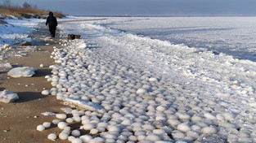
<svg viewBox="0 0 256 143">
<path fill-rule="evenodd" d="M 0 0 L 2 3 L 4 0 Z M 10 0 L 65 15 L 256 15 L 256 0 Z"/>
</svg>

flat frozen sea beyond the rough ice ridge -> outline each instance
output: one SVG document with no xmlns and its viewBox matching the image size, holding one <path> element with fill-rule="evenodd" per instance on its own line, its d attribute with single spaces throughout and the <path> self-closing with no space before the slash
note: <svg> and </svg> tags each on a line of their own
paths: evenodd
<svg viewBox="0 0 256 143">
<path fill-rule="evenodd" d="M 124 18 L 106 26 L 255 61 L 255 24 L 255 17 L 164 17 Z"/>
</svg>

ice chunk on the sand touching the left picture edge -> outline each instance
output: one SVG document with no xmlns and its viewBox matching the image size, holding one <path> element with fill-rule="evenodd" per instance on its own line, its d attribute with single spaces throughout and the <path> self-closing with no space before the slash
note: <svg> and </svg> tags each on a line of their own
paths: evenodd
<svg viewBox="0 0 256 143">
<path fill-rule="evenodd" d="M 19 99 L 19 96 L 17 93 L 12 93 L 11 91 L 3 90 L 0 92 L 0 102 L 15 102 Z"/>
</svg>

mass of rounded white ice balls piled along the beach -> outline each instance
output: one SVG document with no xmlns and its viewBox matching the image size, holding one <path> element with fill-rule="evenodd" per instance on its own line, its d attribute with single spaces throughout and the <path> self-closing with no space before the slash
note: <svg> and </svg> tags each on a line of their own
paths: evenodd
<svg viewBox="0 0 256 143">
<path fill-rule="evenodd" d="M 81 141 L 86 136 L 91 142 L 191 142 L 206 134 L 218 134 L 217 137 L 230 142 L 254 141 L 254 113 L 251 113 L 254 108 L 247 106 L 247 102 L 239 105 L 241 99 L 237 99 L 242 95 L 245 97 L 243 101 L 248 100 L 247 96 L 254 94 L 253 89 L 234 83 L 240 93 L 228 93 L 230 89 L 218 87 L 227 81 L 218 81 L 216 86 L 214 83 L 217 81 L 203 80 L 205 85 L 209 82 L 212 89 L 200 89 L 200 86 L 205 86 L 203 83 L 184 85 L 186 83 L 182 82 L 186 81 L 178 81 L 184 79 L 176 79 L 177 76 L 155 78 L 137 63 L 117 61 L 110 56 L 117 54 L 108 51 L 110 46 L 107 49 L 77 48 L 81 41 L 62 41 L 63 48 L 52 53 L 58 63 L 52 66 L 53 76 L 47 76 L 55 87 L 50 93 L 56 98 L 64 101 L 66 98 L 73 98 L 74 101 L 77 98 L 78 101 L 89 101 L 104 107 L 104 111 L 96 108 L 79 115 L 74 110 L 72 121 L 64 118 L 67 122 L 65 126 L 80 121 L 83 124 L 80 129 L 91 132 L 81 136 Z M 228 88 L 231 86 L 228 84 Z M 216 88 L 223 93 L 216 93 Z M 244 90 L 246 93 L 243 93 Z M 105 125 L 102 127 L 101 124 Z M 72 132 L 63 129 L 60 136 Z"/>
</svg>

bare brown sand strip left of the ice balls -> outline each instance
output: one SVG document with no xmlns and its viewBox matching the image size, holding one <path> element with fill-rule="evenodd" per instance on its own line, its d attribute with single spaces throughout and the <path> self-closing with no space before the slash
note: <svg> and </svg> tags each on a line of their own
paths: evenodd
<svg viewBox="0 0 256 143">
<path fill-rule="evenodd" d="M 41 94 L 43 89 L 52 88 L 44 76 L 51 75 L 51 70 L 48 67 L 54 63 L 50 58 L 52 47 L 60 46 L 58 38 L 53 41 L 43 41 L 43 37 L 47 36 L 49 36 L 47 27 L 42 26 L 31 35 L 33 40 L 37 41 L 32 42 L 32 45 L 37 45 L 38 50 L 31 51 L 22 58 L 7 59 L 13 67 L 37 67 L 38 71 L 34 76 L 12 78 L 8 77 L 7 73 L 0 73 L 2 77 L 0 89 L 18 93 L 20 97 L 13 103 L 0 102 L 0 142 L 52 142 L 47 139 L 47 135 L 58 130 L 58 128 L 48 128 L 43 132 L 36 130 L 39 124 L 55 119 L 55 116 L 45 116 L 41 113 L 46 111 L 60 113 L 61 107 L 65 107 L 61 101 L 56 100 L 56 97 Z M 43 64 L 44 67 L 39 67 L 40 64 Z M 58 140 L 57 142 L 67 141 Z"/>
</svg>

